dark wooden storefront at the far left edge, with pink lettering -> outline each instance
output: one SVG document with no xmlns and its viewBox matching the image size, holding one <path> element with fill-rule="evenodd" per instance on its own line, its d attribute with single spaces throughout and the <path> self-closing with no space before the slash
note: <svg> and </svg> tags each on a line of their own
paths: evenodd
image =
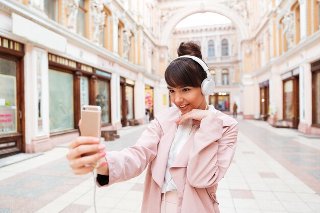
<svg viewBox="0 0 320 213">
<path fill-rule="evenodd" d="M 25 151 L 24 45 L 0 37 L 0 158 Z"/>
</svg>

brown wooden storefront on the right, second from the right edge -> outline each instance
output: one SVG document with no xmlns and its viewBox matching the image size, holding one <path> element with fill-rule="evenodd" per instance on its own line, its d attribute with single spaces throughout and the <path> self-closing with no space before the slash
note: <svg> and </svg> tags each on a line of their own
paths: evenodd
<svg viewBox="0 0 320 213">
<path fill-rule="evenodd" d="M 283 80 L 283 120 L 290 127 L 298 129 L 299 109 L 299 68 L 282 75 Z"/>
</svg>

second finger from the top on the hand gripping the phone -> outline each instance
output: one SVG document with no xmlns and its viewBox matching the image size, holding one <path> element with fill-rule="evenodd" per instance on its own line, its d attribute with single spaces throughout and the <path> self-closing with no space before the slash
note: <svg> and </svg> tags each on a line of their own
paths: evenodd
<svg viewBox="0 0 320 213">
<path fill-rule="evenodd" d="M 104 144 L 93 144 L 93 145 L 80 145 L 74 149 L 71 149 L 69 153 L 66 154 L 66 158 L 68 160 L 80 157 L 80 156 L 84 156 L 87 153 L 97 153 L 99 151 L 102 151 L 105 149 L 105 145 Z"/>
</svg>

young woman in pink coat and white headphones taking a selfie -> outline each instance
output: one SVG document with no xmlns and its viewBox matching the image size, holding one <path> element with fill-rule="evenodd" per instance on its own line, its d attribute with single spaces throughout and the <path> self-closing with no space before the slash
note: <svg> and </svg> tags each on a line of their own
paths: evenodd
<svg viewBox="0 0 320 213">
<path fill-rule="evenodd" d="M 214 82 L 199 46 L 182 42 L 178 56 L 165 73 L 176 107 L 156 114 L 134 146 L 104 152 L 98 138 L 78 137 L 67 158 L 75 174 L 92 172 L 85 165 L 102 158 L 99 186 L 129 180 L 148 167 L 143 213 L 218 213 L 217 183 L 234 157 L 238 123 L 207 105 Z"/>
</svg>

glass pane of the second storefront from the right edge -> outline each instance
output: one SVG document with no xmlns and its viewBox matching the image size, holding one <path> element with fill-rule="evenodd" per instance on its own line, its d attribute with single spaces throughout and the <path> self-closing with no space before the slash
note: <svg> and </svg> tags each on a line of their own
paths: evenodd
<svg viewBox="0 0 320 213">
<path fill-rule="evenodd" d="M 292 119 L 293 118 L 293 80 L 284 82 L 284 118 Z"/>
</svg>

